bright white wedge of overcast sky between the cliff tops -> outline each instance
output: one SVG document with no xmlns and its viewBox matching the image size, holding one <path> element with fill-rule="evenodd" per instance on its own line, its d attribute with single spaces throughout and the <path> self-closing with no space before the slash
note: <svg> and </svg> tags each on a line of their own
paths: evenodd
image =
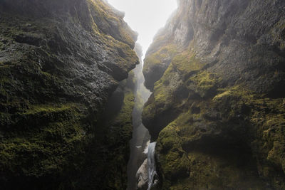
<svg viewBox="0 0 285 190">
<path fill-rule="evenodd" d="M 138 43 L 143 53 L 147 51 L 155 33 L 177 9 L 176 0 L 108 0 L 119 11 L 125 12 L 124 20 L 139 33 Z"/>
</svg>

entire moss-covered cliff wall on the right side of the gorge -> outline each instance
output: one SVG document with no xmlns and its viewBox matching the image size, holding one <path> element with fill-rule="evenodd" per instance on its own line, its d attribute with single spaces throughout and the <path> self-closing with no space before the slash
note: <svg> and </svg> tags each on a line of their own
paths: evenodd
<svg viewBox="0 0 285 190">
<path fill-rule="evenodd" d="M 143 70 L 162 189 L 285 189 L 285 1 L 178 3 Z"/>
</svg>

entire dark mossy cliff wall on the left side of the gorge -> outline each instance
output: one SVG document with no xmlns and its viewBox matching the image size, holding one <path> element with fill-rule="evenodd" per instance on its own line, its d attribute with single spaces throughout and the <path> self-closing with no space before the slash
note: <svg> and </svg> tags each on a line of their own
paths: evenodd
<svg viewBox="0 0 285 190">
<path fill-rule="evenodd" d="M 125 189 L 134 97 L 119 81 L 138 57 L 123 16 L 100 0 L 0 1 L 1 189 Z"/>
</svg>

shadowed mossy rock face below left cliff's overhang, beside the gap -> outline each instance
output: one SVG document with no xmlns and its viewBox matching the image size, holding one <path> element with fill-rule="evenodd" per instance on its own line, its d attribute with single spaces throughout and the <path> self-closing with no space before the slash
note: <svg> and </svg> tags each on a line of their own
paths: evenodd
<svg viewBox="0 0 285 190">
<path fill-rule="evenodd" d="M 81 171 L 81 175 L 85 178 L 78 180 L 76 188 L 126 189 L 134 99 L 132 89 L 123 86 L 110 97 L 108 106 L 103 112 L 104 119 L 99 122 L 101 127 L 95 129 L 92 147 L 89 147 L 87 156 L 90 158 Z M 120 102 L 120 100 L 123 101 L 119 107 L 113 104 L 114 101 Z M 114 109 L 118 111 L 113 112 Z"/>
</svg>

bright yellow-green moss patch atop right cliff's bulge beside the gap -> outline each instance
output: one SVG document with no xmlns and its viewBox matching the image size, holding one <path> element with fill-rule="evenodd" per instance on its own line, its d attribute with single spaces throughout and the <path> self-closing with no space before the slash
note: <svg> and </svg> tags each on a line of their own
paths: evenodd
<svg viewBox="0 0 285 190">
<path fill-rule="evenodd" d="M 145 106 L 144 117 L 152 117 L 169 107 L 180 109 L 181 104 L 185 104 L 191 96 L 189 91 L 203 98 L 214 96 L 220 78 L 213 73 L 200 71 L 203 67 L 204 63 L 191 53 L 175 56 L 162 78 L 155 83 L 153 101 Z"/>
</svg>

